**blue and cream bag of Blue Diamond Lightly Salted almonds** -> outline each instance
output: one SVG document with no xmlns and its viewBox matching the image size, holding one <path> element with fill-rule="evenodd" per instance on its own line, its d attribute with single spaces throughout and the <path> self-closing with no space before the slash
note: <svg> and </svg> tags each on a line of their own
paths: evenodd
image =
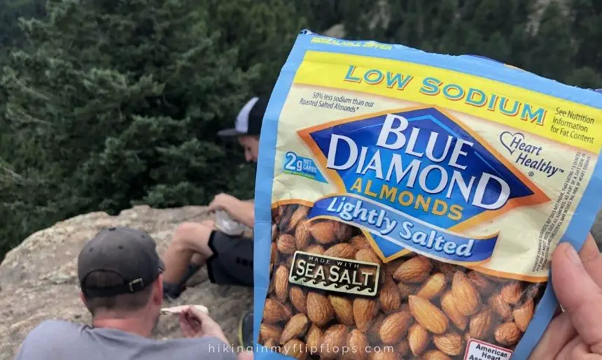
<svg viewBox="0 0 602 360">
<path fill-rule="evenodd" d="M 598 92 L 302 31 L 261 133 L 256 359 L 527 359 L 601 145 Z"/>
</svg>

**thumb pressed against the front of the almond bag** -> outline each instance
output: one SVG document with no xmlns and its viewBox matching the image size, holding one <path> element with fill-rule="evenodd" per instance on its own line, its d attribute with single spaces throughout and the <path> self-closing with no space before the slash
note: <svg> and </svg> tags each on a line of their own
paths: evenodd
<svg viewBox="0 0 602 360">
<path fill-rule="evenodd" d="M 589 276 L 573 246 L 562 243 L 552 254 L 552 285 L 584 343 L 602 342 L 602 289 Z"/>
</svg>

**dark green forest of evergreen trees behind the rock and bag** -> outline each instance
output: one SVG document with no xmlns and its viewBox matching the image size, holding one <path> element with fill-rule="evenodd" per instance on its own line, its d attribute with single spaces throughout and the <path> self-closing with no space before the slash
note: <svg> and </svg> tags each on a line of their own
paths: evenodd
<svg viewBox="0 0 602 360">
<path fill-rule="evenodd" d="M 214 134 L 269 95 L 304 28 L 602 87 L 602 1 L 374 3 L 0 0 L 0 259 L 80 213 L 253 196 L 253 166 Z"/>
</svg>

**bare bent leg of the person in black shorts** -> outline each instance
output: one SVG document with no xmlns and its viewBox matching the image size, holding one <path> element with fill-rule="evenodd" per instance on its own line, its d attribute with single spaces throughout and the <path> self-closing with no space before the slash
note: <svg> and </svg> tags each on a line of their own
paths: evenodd
<svg viewBox="0 0 602 360">
<path fill-rule="evenodd" d="M 209 236 L 213 230 L 214 222 L 210 220 L 201 223 L 185 222 L 178 226 L 164 255 L 165 282 L 179 283 L 190 261 L 197 265 L 205 264 L 213 255 L 209 248 Z"/>
</svg>

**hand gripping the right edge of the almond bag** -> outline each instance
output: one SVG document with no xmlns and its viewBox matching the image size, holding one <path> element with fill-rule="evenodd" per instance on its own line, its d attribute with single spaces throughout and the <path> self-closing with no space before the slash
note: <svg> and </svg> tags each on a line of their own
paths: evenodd
<svg viewBox="0 0 602 360">
<path fill-rule="evenodd" d="M 602 257 L 591 233 L 579 254 L 568 243 L 552 254 L 552 285 L 564 308 L 529 360 L 602 359 Z"/>
</svg>

